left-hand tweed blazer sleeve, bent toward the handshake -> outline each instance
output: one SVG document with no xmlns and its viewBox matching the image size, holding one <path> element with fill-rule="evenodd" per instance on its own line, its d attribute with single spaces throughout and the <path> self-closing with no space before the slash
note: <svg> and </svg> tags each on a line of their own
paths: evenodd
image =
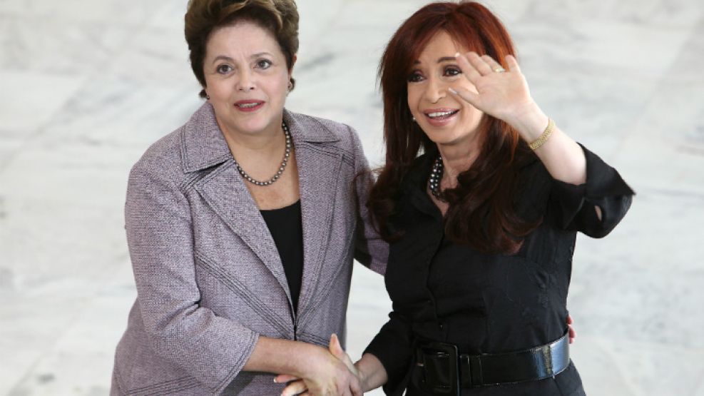
<svg viewBox="0 0 704 396">
<path fill-rule="evenodd" d="M 149 347 L 215 394 L 247 362 L 257 333 L 199 306 L 190 204 L 180 188 L 144 166 L 128 182 L 126 231 Z"/>
</svg>

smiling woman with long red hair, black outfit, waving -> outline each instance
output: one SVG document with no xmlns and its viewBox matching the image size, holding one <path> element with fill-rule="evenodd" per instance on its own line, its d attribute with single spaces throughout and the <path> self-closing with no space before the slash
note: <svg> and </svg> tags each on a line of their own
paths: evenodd
<svg viewBox="0 0 704 396">
<path fill-rule="evenodd" d="M 379 68 L 389 322 L 356 363 L 388 395 L 584 395 L 568 353 L 576 232 L 633 191 L 533 101 L 506 29 L 472 1 L 424 6 Z"/>
</svg>

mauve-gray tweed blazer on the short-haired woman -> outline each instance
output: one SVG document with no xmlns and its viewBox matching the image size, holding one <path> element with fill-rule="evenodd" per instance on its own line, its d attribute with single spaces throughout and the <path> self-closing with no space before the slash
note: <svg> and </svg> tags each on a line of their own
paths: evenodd
<svg viewBox="0 0 704 396">
<path fill-rule="evenodd" d="M 125 209 L 138 296 L 118 343 L 111 395 L 277 395 L 273 375 L 240 372 L 260 335 L 345 340 L 352 258 L 383 273 L 369 227 L 369 176 L 349 126 L 285 111 L 295 145 L 303 279 L 293 312 L 267 225 L 210 104 L 133 167 Z"/>
</svg>

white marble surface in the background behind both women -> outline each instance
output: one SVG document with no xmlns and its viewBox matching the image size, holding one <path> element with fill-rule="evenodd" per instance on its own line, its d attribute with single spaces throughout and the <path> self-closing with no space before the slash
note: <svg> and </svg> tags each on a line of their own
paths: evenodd
<svg viewBox="0 0 704 396">
<path fill-rule="evenodd" d="M 299 0 L 288 107 L 350 123 L 382 158 L 377 61 L 425 1 Z M 704 4 L 491 0 L 537 101 L 636 189 L 579 238 L 569 308 L 590 395 L 704 396 Z M 131 164 L 200 103 L 185 0 L 0 0 L 0 395 L 106 395 L 135 291 Z M 350 353 L 389 310 L 354 273 Z M 375 394 L 379 395 L 379 392 Z"/>
</svg>

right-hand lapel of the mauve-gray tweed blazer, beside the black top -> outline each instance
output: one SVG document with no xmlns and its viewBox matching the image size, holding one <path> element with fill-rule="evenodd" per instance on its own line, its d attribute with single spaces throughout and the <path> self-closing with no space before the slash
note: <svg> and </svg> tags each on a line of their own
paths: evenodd
<svg viewBox="0 0 704 396">
<path fill-rule="evenodd" d="M 322 273 L 322 265 L 330 240 L 342 152 L 325 144 L 339 138 L 322 124 L 297 118 L 289 112 L 285 112 L 284 120 L 295 146 L 301 198 L 304 264 L 298 300 L 297 314 L 300 316 L 315 297 L 318 284 L 325 282 L 334 272 Z"/>
</svg>

